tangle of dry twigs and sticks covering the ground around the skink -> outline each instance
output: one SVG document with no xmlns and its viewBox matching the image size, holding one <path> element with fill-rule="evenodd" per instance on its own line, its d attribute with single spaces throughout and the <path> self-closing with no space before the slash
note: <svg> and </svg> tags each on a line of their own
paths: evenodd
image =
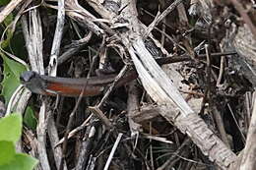
<svg viewBox="0 0 256 170">
<path fill-rule="evenodd" d="M 12 110 L 34 107 L 19 146 L 37 169 L 256 166 L 253 0 L 11 1 L 0 22 L 12 11 L 31 70 L 72 78 L 22 77 L 55 95 L 14 99 Z"/>
</svg>

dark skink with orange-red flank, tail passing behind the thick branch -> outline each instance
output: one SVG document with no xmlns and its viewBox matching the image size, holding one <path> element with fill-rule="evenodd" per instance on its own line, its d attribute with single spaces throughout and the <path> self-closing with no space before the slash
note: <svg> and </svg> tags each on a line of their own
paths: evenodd
<svg viewBox="0 0 256 170">
<path fill-rule="evenodd" d="M 230 53 L 213 53 L 212 56 L 231 55 Z M 199 55 L 202 59 L 205 55 Z M 166 57 L 157 59 L 157 62 L 162 64 L 187 61 L 190 57 Z M 72 79 L 72 78 L 58 78 L 39 75 L 32 71 L 27 71 L 21 75 L 21 83 L 28 87 L 32 92 L 43 95 L 63 95 L 63 96 L 79 96 L 82 92 L 83 96 L 95 96 L 111 85 L 115 80 L 116 75 L 106 75 L 101 77 L 92 77 L 90 79 Z M 125 85 L 138 77 L 135 70 L 129 71 L 124 75 L 115 85 L 115 87 Z"/>
</svg>

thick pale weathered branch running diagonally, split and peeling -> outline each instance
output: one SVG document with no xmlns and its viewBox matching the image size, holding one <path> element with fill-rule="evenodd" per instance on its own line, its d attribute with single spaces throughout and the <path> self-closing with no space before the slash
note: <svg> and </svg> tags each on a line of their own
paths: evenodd
<svg viewBox="0 0 256 170">
<path fill-rule="evenodd" d="M 92 0 L 90 0 L 90 3 L 92 3 Z M 173 114 L 162 116 L 169 121 L 168 117 L 177 118 L 172 119 L 172 121 L 180 131 L 188 134 L 203 153 L 209 155 L 212 161 L 223 169 L 227 169 L 235 161 L 236 155 L 194 113 L 145 47 L 142 39 L 144 27 L 137 19 L 137 9 L 134 2 L 123 0 L 122 4 L 128 5 L 116 17 L 127 21 L 127 28 L 129 29 L 121 33 L 121 40 L 129 50 L 142 84 L 159 105 L 172 106 L 178 113 L 175 116 Z M 92 7 L 96 8 L 95 6 Z M 98 12 L 100 13 L 100 11 Z M 100 15 L 109 19 L 103 13 Z M 189 123 L 190 119 L 193 121 Z"/>
</svg>

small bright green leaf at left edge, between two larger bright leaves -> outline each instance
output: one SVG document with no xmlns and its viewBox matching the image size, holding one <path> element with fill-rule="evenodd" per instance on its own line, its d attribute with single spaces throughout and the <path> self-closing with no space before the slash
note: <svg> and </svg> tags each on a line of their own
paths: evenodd
<svg viewBox="0 0 256 170">
<path fill-rule="evenodd" d="M 14 156 L 15 156 L 14 143 L 0 141 L 0 165 L 10 163 L 14 159 Z"/>
</svg>

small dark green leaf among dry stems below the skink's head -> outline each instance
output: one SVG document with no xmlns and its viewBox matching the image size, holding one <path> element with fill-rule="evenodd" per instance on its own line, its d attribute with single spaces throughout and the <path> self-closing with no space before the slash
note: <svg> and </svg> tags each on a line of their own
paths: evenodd
<svg viewBox="0 0 256 170">
<path fill-rule="evenodd" d="M 37 120 L 34 117 L 34 112 L 32 110 L 32 107 L 27 107 L 24 115 L 24 123 L 30 127 L 32 130 L 36 129 Z"/>
</svg>

